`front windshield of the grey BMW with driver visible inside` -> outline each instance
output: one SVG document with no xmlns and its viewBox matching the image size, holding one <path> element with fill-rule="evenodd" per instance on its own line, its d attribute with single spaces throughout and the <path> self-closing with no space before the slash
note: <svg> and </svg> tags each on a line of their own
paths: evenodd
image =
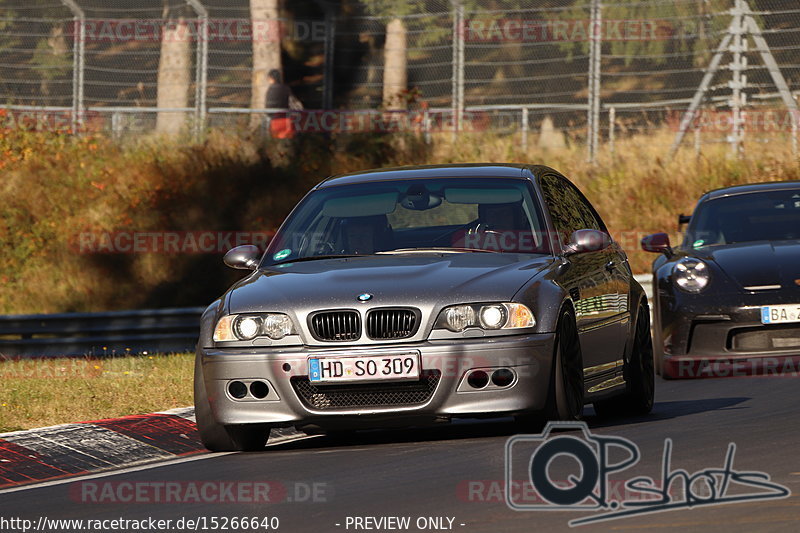
<svg viewBox="0 0 800 533">
<path fill-rule="evenodd" d="M 549 253 L 529 182 L 398 180 L 310 193 L 270 243 L 262 266 L 378 253 Z"/>
</svg>

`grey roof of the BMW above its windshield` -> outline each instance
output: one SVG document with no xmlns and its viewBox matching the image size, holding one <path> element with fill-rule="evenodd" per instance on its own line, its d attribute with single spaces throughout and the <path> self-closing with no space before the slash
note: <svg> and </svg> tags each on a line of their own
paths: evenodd
<svg viewBox="0 0 800 533">
<path fill-rule="evenodd" d="M 373 181 L 423 179 L 423 178 L 516 178 L 531 179 L 540 165 L 505 163 L 461 163 L 453 165 L 419 165 L 364 170 L 331 176 L 317 188 Z"/>
</svg>

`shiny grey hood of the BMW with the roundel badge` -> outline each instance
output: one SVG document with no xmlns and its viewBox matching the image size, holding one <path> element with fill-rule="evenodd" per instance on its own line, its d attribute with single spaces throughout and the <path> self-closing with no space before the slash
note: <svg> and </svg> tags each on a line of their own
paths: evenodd
<svg viewBox="0 0 800 533">
<path fill-rule="evenodd" d="M 237 284 L 230 313 L 330 309 L 359 305 L 436 307 L 450 303 L 508 301 L 553 262 L 516 254 L 379 255 L 273 266 Z"/>
</svg>

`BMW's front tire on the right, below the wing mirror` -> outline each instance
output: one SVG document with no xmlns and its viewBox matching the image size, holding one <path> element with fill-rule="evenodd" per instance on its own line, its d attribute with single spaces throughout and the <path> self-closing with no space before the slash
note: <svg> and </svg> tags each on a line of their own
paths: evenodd
<svg viewBox="0 0 800 533">
<path fill-rule="evenodd" d="M 575 317 L 569 309 L 562 310 L 556 326 L 548 390 L 543 411 L 517 416 L 524 429 L 538 431 L 548 420 L 575 421 L 583 416 L 583 356 Z"/>
</svg>

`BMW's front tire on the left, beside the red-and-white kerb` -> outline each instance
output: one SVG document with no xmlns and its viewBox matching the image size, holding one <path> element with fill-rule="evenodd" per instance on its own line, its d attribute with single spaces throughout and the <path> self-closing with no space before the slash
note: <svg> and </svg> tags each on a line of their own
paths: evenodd
<svg viewBox="0 0 800 533">
<path fill-rule="evenodd" d="M 263 450 L 269 437 L 268 426 L 223 426 L 214 419 L 208 403 L 200 358 L 194 362 L 194 416 L 200 441 L 212 452 L 244 452 Z"/>
</svg>

